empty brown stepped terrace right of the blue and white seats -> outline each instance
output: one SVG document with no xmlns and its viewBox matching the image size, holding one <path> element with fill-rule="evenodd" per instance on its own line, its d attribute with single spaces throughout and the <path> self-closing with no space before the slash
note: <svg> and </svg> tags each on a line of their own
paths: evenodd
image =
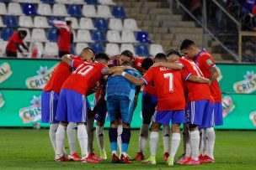
<svg viewBox="0 0 256 170">
<path fill-rule="evenodd" d="M 115 3 L 125 8 L 128 18 L 135 18 L 141 30 L 149 33 L 153 43 L 162 44 L 163 50 L 179 49 L 183 39 L 193 39 L 195 43 L 203 47 L 203 28 L 194 21 L 184 21 L 184 12 L 173 4 L 173 14 L 167 0 L 115 0 Z M 221 50 L 220 46 L 205 36 L 208 45 L 204 47 L 216 61 L 232 62 L 232 57 Z"/>
</svg>

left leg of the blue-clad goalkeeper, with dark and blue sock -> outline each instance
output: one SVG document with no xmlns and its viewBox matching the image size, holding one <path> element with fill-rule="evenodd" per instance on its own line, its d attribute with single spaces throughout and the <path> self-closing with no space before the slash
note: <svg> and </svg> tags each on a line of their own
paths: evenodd
<svg viewBox="0 0 256 170">
<path fill-rule="evenodd" d="M 109 113 L 109 142 L 112 152 L 112 162 L 120 162 L 117 156 L 117 111 L 119 111 L 119 99 L 115 96 L 109 96 L 107 101 L 107 110 Z"/>
</svg>

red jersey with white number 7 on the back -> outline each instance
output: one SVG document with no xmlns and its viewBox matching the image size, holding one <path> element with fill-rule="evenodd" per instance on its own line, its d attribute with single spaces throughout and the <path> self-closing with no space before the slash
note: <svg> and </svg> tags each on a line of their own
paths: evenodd
<svg viewBox="0 0 256 170">
<path fill-rule="evenodd" d="M 148 85 L 152 81 L 157 92 L 157 111 L 184 110 L 184 88 L 180 71 L 166 67 L 152 67 L 141 78 Z"/>
</svg>

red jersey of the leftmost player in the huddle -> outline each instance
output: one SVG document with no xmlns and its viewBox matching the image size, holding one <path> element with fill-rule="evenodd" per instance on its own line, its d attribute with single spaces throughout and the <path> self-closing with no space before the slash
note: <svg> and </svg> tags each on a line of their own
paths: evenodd
<svg viewBox="0 0 256 170">
<path fill-rule="evenodd" d="M 72 59 L 81 60 L 76 56 L 71 56 Z M 61 86 L 67 80 L 67 77 L 72 74 L 72 67 L 68 64 L 61 62 L 53 70 L 52 75 L 48 83 L 45 85 L 44 91 L 53 90 L 56 93 L 60 93 Z"/>
</svg>

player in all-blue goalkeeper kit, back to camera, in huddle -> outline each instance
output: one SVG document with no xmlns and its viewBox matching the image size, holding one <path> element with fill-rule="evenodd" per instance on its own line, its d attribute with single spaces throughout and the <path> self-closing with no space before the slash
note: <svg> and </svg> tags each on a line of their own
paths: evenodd
<svg viewBox="0 0 256 170">
<path fill-rule="evenodd" d="M 131 61 L 125 61 L 123 65 L 131 66 Z M 135 77 L 140 77 L 136 70 L 124 70 L 125 73 L 133 75 Z M 109 128 L 109 140 L 112 151 L 112 162 L 122 162 L 131 163 L 129 161 L 126 152 L 128 150 L 130 138 L 131 138 L 131 118 L 134 111 L 134 105 L 136 104 L 136 99 L 138 92 L 140 91 L 140 86 L 132 84 L 130 81 L 126 80 L 122 76 L 109 76 L 106 85 L 106 101 L 107 109 L 110 118 L 110 128 Z M 123 131 L 121 133 L 121 156 L 120 159 L 117 156 L 117 118 L 120 114 Z"/>
</svg>

